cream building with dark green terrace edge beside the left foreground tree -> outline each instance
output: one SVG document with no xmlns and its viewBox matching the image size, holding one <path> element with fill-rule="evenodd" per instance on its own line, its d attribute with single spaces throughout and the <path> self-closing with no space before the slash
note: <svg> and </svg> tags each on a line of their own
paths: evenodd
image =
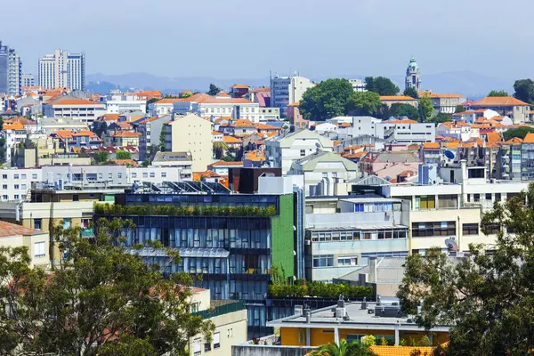
<svg viewBox="0 0 534 356">
<path fill-rule="evenodd" d="M 210 341 L 204 336 L 190 338 L 190 356 L 231 354 L 231 346 L 247 341 L 247 310 L 245 303 L 235 300 L 216 300 L 210 298 L 208 289 L 191 287 L 193 314 L 214 324 Z"/>
</svg>

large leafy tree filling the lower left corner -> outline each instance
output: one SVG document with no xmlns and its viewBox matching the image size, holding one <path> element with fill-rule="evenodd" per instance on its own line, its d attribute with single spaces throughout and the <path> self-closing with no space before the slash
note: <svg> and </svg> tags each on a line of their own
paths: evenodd
<svg viewBox="0 0 534 356">
<path fill-rule="evenodd" d="M 0 347 L 8 352 L 0 353 L 19 345 L 39 355 L 188 355 L 190 337 L 209 338 L 213 324 L 190 313 L 190 276 L 164 279 L 163 266 L 127 251 L 121 231 L 131 228 L 101 219 L 85 239 L 79 228 L 56 227 L 61 262 L 53 274 L 30 269 L 26 247 L 1 247 Z M 166 254 L 165 263 L 179 259 Z"/>
</svg>

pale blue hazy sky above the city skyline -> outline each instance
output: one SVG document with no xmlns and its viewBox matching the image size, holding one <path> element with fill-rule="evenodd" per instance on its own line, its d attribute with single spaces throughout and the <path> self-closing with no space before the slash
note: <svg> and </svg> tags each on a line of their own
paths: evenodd
<svg viewBox="0 0 534 356">
<path fill-rule="evenodd" d="M 0 40 L 23 71 L 56 48 L 86 73 L 165 77 L 534 77 L 531 0 L 0 0 Z"/>
</svg>

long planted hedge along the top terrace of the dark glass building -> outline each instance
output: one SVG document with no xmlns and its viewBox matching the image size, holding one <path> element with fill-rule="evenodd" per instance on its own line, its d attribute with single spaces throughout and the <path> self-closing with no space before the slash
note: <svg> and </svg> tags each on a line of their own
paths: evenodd
<svg viewBox="0 0 534 356">
<path fill-rule="evenodd" d="M 95 214 L 103 215 L 209 215 L 209 216 L 274 216 L 276 207 L 267 206 L 121 206 L 95 204 Z"/>
</svg>

